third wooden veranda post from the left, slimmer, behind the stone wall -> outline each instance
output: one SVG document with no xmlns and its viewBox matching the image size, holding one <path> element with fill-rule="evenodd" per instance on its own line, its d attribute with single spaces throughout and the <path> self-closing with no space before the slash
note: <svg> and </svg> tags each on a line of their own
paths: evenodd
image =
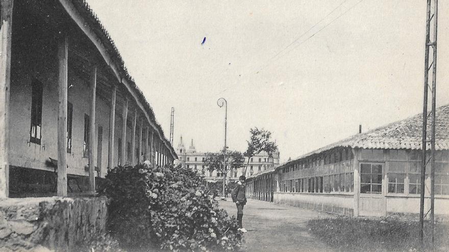
<svg viewBox="0 0 449 252">
<path fill-rule="evenodd" d="M 95 91 L 96 66 L 93 67 L 90 79 L 90 125 L 89 125 L 89 191 L 95 193 Z"/>
</svg>

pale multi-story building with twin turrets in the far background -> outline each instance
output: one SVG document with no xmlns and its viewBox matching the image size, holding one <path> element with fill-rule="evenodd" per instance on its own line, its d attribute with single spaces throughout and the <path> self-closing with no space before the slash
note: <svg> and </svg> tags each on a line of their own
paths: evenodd
<svg viewBox="0 0 449 252">
<path fill-rule="evenodd" d="M 197 152 L 195 146 L 193 145 L 193 139 L 190 143 L 188 149 L 185 148 L 183 139 L 181 136 L 180 143 L 176 149 L 179 159 L 175 160 L 175 163 L 182 164 L 187 168 L 196 171 L 200 176 L 204 177 L 208 182 L 221 181 L 223 179 L 223 174 L 217 171 L 209 171 L 208 166 L 204 163 L 206 158 L 206 152 Z M 229 180 L 238 180 L 238 177 L 243 174 L 246 164 L 248 163 L 248 158 L 245 157 L 244 166 L 239 169 L 232 169 L 228 172 L 227 178 Z M 265 152 L 259 153 L 254 157 L 250 158 L 246 169 L 246 177 L 253 174 L 263 172 L 279 164 L 279 151 L 272 154 L 272 157 L 268 157 Z"/>
</svg>

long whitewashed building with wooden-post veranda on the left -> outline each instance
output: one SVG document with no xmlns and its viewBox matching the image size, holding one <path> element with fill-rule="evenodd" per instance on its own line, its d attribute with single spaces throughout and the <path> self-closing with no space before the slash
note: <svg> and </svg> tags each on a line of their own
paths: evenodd
<svg viewBox="0 0 449 252">
<path fill-rule="evenodd" d="M 0 198 L 93 193 L 117 165 L 178 158 L 85 1 L 0 7 Z"/>
</svg>

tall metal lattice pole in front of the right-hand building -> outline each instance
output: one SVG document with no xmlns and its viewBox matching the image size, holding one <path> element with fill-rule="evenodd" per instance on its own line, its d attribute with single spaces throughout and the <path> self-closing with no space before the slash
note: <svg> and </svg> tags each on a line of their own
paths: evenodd
<svg viewBox="0 0 449 252">
<path fill-rule="evenodd" d="M 424 218 L 426 215 L 424 214 L 424 202 L 425 202 L 425 188 L 426 188 L 426 165 L 431 161 L 431 188 L 430 188 L 430 222 L 431 222 L 431 235 L 432 235 L 432 247 L 434 245 L 434 206 L 435 206 L 435 124 L 436 124 L 436 68 L 437 68 L 437 24 L 438 24 L 438 0 L 433 0 L 433 9 L 434 13 L 431 15 L 432 9 L 432 0 L 427 0 L 427 21 L 426 21 L 426 50 L 425 50 L 425 60 L 424 60 L 424 99 L 423 99 L 423 109 L 422 109 L 422 166 L 421 166 L 421 188 L 420 188 L 420 206 L 419 206 L 419 236 L 421 239 L 421 246 L 424 246 Z M 431 22 L 434 20 L 433 27 L 433 42 L 430 40 L 431 33 Z M 430 47 L 433 50 L 432 63 L 429 67 L 429 55 L 430 55 Z M 429 86 L 429 71 L 433 67 L 432 70 L 432 88 Z M 432 111 L 428 114 L 427 105 L 428 105 L 428 89 L 431 89 L 432 92 Z M 431 156 L 430 159 L 427 160 L 426 157 L 426 149 L 427 143 L 427 120 L 428 117 L 432 115 L 432 132 L 431 132 Z"/>
</svg>

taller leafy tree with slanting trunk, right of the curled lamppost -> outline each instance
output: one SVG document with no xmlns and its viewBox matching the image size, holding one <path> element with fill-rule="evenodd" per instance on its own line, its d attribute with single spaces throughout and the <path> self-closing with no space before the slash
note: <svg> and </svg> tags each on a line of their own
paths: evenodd
<svg viewBox="0 0 449 252">
<path fill-rule="evenodd" d="M 248 164 L 250 164 L 250 159 L 252 157 L 264 151 L 270 158 L 273 157 L 273 152 L 275 152 L 278 149 L 276 141 L 272 142 L 270 141 L 271 137 L 270 131 L 258 129 L 257 127 L 255 127 L 254 129 L 253 128 L 250 129 L 250 133 L 251 133 L 250 141 L 246 141 L 246 143 L 248 143 L 248 148 L 243 154 L 245 157 L 248 158 L 248 162 L 246 163 L 245 171 L 243 172 L 243 174 L 246 174 L 246 169 L 248 167 Z"/>
</svg>

